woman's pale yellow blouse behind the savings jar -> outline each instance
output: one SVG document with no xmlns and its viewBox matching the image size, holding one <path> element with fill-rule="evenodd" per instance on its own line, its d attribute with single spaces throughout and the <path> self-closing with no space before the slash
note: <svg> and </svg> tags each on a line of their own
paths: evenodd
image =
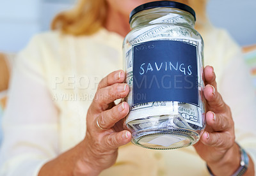
<svg viewBox="0 0 256 176">
<path fill-rule="evenodd" d="M 225 31 L 211 28 L 207 33 L 199 32 L 205 40 L 205 65 L 214 66 L 218 89 L 234 111 L 237 141 L 255 159 L 255 101 L 244 76 L 246 68 L 239 47 Z M 36 175 L 49 159 L 83 140 L 86 111 L 97 84 L 111 71 L 122 69 L 122 40 L 105 29 L 79 38 L 57 31 L 33 38 L 17 58 L 3 122 L 0 175 Z M 234 82 L 239 75 L 242 84 Z M 24 85 L 17 84 L 20 80 Z M 30 91 L 20 96 L 22 90 Z M 129 143 L 120 147 L 116 164 L 100 175 L 209 173 L 193 147 L 150 150 Z"/>
</svg>

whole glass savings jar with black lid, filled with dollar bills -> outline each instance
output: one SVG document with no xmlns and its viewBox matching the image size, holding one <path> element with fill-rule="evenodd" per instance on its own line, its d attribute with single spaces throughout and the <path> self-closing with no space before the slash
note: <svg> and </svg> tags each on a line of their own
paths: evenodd
<svg viewBox="0 0 256 176">
<path fill-rule="evenodd" d="M 132 143 L 177 149 L 198 142 L 205 127 L 203 48 L 186 4 L 155 1 L 130 15 L 123 44 L 130 92 L 125 128 Z"/>
</svg>

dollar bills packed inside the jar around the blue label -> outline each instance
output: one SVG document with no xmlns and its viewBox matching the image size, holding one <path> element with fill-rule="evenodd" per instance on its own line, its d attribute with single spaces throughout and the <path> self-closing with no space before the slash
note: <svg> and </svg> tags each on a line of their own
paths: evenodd
<svg viewBox="0 0 256 176">
<path fill-rule="evenodd" d="M 177 17 L 164 17 L 158 20 L 162 20 L 162 22 L 170 22 L 175 20 L 184 20 L 180 15 Z M 180 103 L 177 101 L 155 101 L 143 103 L 140 105 L 132 105 L 132 83 L 133 83 L 133 75 L 132 75 L 132 47 L 138 43 L 149 41 L 149 40 L 174 40 L 174 41 L 182 41 L 186 43 L 190 43 L 197 47 L 197 57 L 202 58 L 202 40 L 196 40 L 195 38 L 191 38 L 194 33 L 187 30 L 184 27 L 180 26 L 171 26 L 171 25 L 159 25 L 157 21 L 153 21 L 151 26 L 139 28 L 127 39 L 129 41 L 129 48 L 126 49 L 125 53 L 125 70 L 126 70 L 126 82 L 130 87 L 130 92 L 126 98 L 127 103 L 131 106 L 130 113 L 127 115 L 126 122 L 134 129 L 145 129 L 150 128 L 150 126 L 154 126 L 157 123 L 154 121 L 143 120 L 140 123 L 136 122 L 136 119 L 143 119 L 147 117 L 161 117 L 161 115 L 176 115 L 179 116 L 179 119 L 175 119 L 175 122 L 170 122 L 168 119 L 161 119 L 160 122 L 162 126 L 166 126 L 168 124 L 172 126 L 179 126 L 180 128 L 189 128 L 191 124 L 195 126 L 202 127 L 202 112 L 200 111 L 200 107 L 191 105 L 188 103 Z M 202 68 L 200 62 L 198 62 L 198 68 Z M 202 99 L 202 86 L 204 82 L 202 79 L 202 75 L 200 75 L 200 71 L 198 71 L 198 91 L 200 92 L 199 99 Z M 178 105 L 179 104 L 179 105 Z M 200 104 L 200 106 L 203 106 Z M 157 118 L 156 118 L 157 119 Z M 182 121 L 184 120 L 184 121 Z M 167 124 L 166 124 L 167 123 Z M 172 124 L 173 123 L 173 124 Z M 189 125 L 189 124 L 190 125 Z M 159 125 L 159 124 L 158 124 Z"/>
</svg>

